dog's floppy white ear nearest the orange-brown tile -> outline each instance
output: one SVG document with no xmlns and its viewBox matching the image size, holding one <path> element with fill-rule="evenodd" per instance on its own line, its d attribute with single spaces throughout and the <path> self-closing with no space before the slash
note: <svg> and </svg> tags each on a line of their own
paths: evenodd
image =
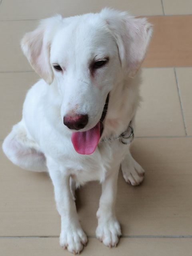
<svg viewBox="0 0 192 256">
<path fill-rule="evenodd" d="M 133 77 L 144 60 L 152 35 L 152 25 L 146 18 L 135 18 L 127 12 L 108 8 L 103 9 L 101 15 L 116 39 L 124 71 Z"/>
</svg>

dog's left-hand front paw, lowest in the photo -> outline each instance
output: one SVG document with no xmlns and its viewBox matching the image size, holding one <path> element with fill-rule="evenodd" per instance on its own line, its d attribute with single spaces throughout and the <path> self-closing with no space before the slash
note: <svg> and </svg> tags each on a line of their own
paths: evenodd
<svg viewBox="0 0 192 256">
<path fill-rule="evenodd" d="M 60 234 L 60 246 L 68 249 L 73 254 L 80 254 L 83 247 L 87 244 L 87 236 L 82 228 L 73 228 L 72 226 L 62 230 Z"/>
</svg>

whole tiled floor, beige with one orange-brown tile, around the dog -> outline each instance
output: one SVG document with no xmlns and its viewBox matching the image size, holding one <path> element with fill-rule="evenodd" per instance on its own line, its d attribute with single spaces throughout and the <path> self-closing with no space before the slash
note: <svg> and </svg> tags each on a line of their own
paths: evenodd
<svg viewBox="0 0 192 256">
<path fill-rule="evenodd" d="M 0 1 L 0 140 L 21 117 L 26 91 L 38 79 L 20 50 L 37 19 L 98 11 L 104 6 L 148 16 L 154 35 L 143 63 L 143 102 L 132 146 L 146 170 L 139 187 L 119 176 L 117 248 L 95 238 L 100 186 L 78 191 L 80 221 L 88 234 L 82 255 L 181 256 L 192 252 L 192 1 Z M 169 16 L 168 16 L 169 15 Z M 58 243 L 60 218 L 46 174 L 21 170 L 0 152 L 0 255 L 70 255 Z"/>
</svg>

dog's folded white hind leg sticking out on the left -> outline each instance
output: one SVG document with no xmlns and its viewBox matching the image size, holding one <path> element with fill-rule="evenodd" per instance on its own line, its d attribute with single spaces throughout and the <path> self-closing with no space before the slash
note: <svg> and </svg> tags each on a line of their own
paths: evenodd
<svg viewBox="0 0 192 256">
<path fill-rule="evenodd" d="M 14 164 L 23 169 L 46 172 L 46 158 L 38 144 L 28 138 L 23 121 L 14 125 L 5 138 L 2 149 Z"/>
</svg>

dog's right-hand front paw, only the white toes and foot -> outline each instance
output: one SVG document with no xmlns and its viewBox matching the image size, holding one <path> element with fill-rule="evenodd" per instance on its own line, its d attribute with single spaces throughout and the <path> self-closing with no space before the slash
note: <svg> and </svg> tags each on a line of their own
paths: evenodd
<svg viewBox="0 0 192 256">
<path fill-rule="evenodd" d="M 106 221 L 99 220 L 96 237 L 108 247 L 116 247 L 121 235 L 121 228 L 115 217 Z"/>
</svg>

